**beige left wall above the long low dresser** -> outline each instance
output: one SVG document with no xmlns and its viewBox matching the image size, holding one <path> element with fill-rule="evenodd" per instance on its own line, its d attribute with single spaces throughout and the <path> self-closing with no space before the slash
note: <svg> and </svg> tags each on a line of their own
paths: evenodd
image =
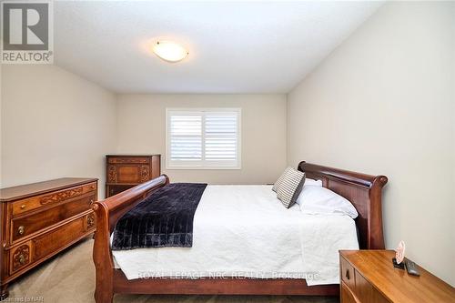
<svg viewBox="0 0 455 303">
<path fill-rule="evenodd" d="M 2 187 L 98 177 L 116 149 L 116 96 L 56 66 L 2 66 Z M 100 190 L 104 197 L 104 190 Z"/>
</svg>

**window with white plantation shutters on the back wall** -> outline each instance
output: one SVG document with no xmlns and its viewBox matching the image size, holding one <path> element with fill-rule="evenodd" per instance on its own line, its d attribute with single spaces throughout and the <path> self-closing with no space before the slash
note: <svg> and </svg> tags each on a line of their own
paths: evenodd
<svg viewBox="0 0 455 303">
<path fill-rule="evenodd" d="M 240 114 L 239 108 L 167 108 L 167 168 L 240 168 Z"/>
</svg>

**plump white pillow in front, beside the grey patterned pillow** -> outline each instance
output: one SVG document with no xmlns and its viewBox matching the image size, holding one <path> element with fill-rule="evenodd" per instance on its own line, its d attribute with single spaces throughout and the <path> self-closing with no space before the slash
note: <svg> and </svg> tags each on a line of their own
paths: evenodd
<svg viewBox="0 0 455 303">
<path fill-rule="evenodd" d="M 356 218 L 356 208 L 344 197 L 326 187 L 305 185 L 298 195 L 300 211 L 309 215 L 344 214 Z"/>
</svg>

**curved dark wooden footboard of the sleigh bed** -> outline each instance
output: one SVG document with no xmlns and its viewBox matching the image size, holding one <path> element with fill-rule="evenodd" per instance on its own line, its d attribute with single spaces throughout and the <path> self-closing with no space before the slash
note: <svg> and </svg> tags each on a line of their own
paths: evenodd
<svg viewBox="0 0 455 303">
<path fill-rule="evenodd" d="M 110 247 L 110 235 L 116 227 L 116 222 L 144 197 L 167 184 L 169 184 L 169 178 L 162 175 L 94 204 L 96 232 L 93 260 L 96 268 L 95 299 L 97 303 L 112 302 L 114 296 L 115 268 Z"/>
</svg>

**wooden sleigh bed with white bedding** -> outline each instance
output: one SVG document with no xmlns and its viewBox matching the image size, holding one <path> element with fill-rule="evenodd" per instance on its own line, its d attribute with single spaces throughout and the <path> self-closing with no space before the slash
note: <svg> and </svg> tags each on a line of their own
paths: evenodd
<svg viewBox="0 0 455 303">
<path fill-rule="evenodd" d="M 118 219 L 166 186 L 169 179 L 157 177 L 96 202 L 96 302 L 111 302 L 115 293 L 338 295 L 338 276 L 333 274 L 338 259 L 333 259 L 333 247 L 332 259 L 321 262 L 319 258 L 318 263 L 317 257 L 325 256 L 327 249 L 312 239 L 325 235 L 326 243 L 337 242 L 344 248 L 384 248 L 381 190 L 387 177 L 306 162 L 298 170 L 348 198 L 359 217 L 355 221 L 340 216 L 303 217 L 295 207 L 286 209 L 273 203 L 269 186 L 208 186 L 194 219 L 193 247 L 112 251 L 111 234 Z M 214 200 L 217 203 L 210 203 Z M 248 216 L 252 212 L 256 216 Z M 219 213 L 223 216 L 217 216 Z M 296 232 L 284 233 L 286 228 Z M 288 253 L 300 248 L 306 261 L 312 257 L 312 267 L 301 254 Z M 258 268 L 262 270 L 258 272 Z M 324 279 L 314 278 L 315 269 L 325 273 Z"/>
</svg>

